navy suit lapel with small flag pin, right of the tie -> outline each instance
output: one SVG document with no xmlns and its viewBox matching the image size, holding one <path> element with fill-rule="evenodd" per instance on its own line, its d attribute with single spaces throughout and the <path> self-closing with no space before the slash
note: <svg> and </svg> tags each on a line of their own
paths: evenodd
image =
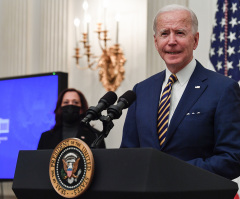
<svg viewBox="0 0 240 199">
<path fill-rule="evenodd" d="M 190 108 L 207 88 L 207 81 L 205 81 L 207 77 L 203 74 L 203 70 L 203 66 L 197 62 L 196 68 L 173 114 L 162 149 L 169 142 L 176 128 L 180 125 Z"/>
</svg>

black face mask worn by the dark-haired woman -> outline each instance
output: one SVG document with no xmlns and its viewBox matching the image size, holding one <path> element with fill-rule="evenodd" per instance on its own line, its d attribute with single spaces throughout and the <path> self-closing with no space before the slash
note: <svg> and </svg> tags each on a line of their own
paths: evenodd
<svg viewBox="0 0 240 199">
<path fill-rule="evenodd" d="M 73 124 L 80 120 L 81 115 L 79 114 L 80 112 L 80 107 L 79 106 L 74 106 L 74 105 L 67 105 L 61 107 L 62 110 L 62 119 L 63 122 L 67 124 Z"/>
</svg>

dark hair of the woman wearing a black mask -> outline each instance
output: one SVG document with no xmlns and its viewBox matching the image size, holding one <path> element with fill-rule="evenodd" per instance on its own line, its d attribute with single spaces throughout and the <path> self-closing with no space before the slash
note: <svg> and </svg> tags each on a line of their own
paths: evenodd
<svg viewBox="0 0 240 199">
<path fill-rule="evenodd" d="M 56 108 L 54 110 L 54 113 L 55 113 L 55 125 L 53 127 L 52 130 L 56 130 L 57 128 L 61 127 L 62 126 L 62 110 L 61 110 L 61 104 L 62 104 L 62 100 L 63 100 L 63 96 L 66 92 L 76 92 L 79 97 L 80 97 L 80 100 L 81 100 L 81 111 L 82 111 L 82 114 L 86 114 L 87 110 L 88 110 L 88 103 L 87 103 L 87 100 L 85 98 L 85 96 L 82 94 L 81 91 L 75 89 L 75 88 L 67 88 L 65 90 L 63 90 L 59 96 L 58 96 L 58 100 L 57 100 L 57 105 L 56 105 Z"/>
</svg>

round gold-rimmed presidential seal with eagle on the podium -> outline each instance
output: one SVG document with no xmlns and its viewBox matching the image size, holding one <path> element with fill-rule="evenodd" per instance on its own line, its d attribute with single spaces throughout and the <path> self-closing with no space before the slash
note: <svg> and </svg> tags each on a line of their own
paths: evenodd
<svg viewBox="0 0 240 199">
<path fill-rule="evenodd" d="M 94 159 L 88 145 L 69 138 L 53 150 L 49 175 L 55 191 L 65 198 L 75 198 L 89 187 L 94 172 Z"/>
</svg>

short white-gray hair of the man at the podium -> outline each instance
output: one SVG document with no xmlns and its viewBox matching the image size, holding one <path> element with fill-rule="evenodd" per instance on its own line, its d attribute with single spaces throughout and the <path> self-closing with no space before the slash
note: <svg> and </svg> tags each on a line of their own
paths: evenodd
<svg viewBox="0 0 240 199">
<path fill-rule="evenodd" d="M 192 18 L 192 33 L 195 35 L 198 32 L 198 19 L 197 19 L 197 16 L 195 15 L 195 13 L 191 9 L 189 9 L 188 7 L 185 7 L 185 6 L 182 6 L 182 5 L 177 5 L 177 4 L 171 4 L 171 5 L 164 6 L 156 14 L 156 16 L 154 18 L 154 21 L 153 21 L 154 34 L 156 34 L 156 32 L 157 32 L 157 19 L 158 19 L 159 15 L 164 13 L 164 12 L 176 11 L 176 10 L 186 10 L 186 11 L 188 11 L 191 15 L 191 18 Z"/>
</svg>

